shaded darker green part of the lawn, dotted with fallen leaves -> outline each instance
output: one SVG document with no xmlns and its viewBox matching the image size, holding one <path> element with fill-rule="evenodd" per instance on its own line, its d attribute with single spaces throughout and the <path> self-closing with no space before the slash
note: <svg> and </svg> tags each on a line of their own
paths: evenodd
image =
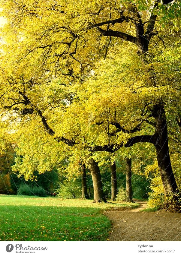
<svg viewBox="0 0 181 256">
<path fill-rule="evenodd" d="M 0 206 L 0 241 L 105 241 L 110 220 L 89 207 Z"/>
</svg>

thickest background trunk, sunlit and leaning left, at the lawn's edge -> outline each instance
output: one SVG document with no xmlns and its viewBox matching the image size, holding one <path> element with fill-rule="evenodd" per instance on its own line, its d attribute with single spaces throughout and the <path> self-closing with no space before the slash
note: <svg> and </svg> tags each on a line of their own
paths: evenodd
<svg viewBox="0 0 181 256">
<path fill-rule="evenodd" d="M 102 189 L 102 180 L 101 173 L 98 164 L 93 160 L 89 160 L 90 164 L 90 172 L 92 175 L 92 182 L 94 187 L 94 201 L 93 203 L 104 202 L 107 203 L 107 200 L 104 196 L 104 192 Z"/>
</svg>

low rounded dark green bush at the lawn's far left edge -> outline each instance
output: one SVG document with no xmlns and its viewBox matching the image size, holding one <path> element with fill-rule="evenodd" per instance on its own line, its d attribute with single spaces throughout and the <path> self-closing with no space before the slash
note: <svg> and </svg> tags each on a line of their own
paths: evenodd
<svg viewBox="0 0 181 256">
<path fill-rule="evenodd" d="M 47 192 L 42 187 L 31 187 L 29 185 L 23 184 L 18 188 L 17 195 L 46 197 Z"/>
</svg>

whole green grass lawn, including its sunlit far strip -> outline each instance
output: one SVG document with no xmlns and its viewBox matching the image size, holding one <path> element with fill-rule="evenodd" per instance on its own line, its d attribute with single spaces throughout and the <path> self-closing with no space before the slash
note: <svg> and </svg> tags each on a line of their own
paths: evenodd
<svg viewBox="0 0 181 256">
<path fill-rule="evenodd" d="M 103 214 L 138 204 L 0 195 L 0 241 L 105 241 L 111 230 Z"/>
</svg>

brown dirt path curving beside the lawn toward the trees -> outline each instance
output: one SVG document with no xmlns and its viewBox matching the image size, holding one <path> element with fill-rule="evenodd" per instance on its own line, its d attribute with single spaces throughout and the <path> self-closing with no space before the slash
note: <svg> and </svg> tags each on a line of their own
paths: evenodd
<svg viewBox="0 0 181 256">
<path fill-rule="evenodd" d="M 110 241 L 181 241 L 180 213 L 140 212 L 146 202 L 137 203 L 136 209 L 105 213 L 113 223 Z"/>
</svg>

